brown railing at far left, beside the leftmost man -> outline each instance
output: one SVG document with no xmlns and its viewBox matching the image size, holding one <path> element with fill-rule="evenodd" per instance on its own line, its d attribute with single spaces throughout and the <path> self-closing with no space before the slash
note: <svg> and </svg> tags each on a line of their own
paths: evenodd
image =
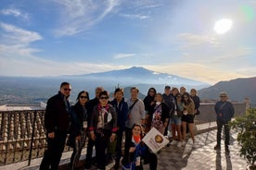
<svg viewBox="0 0 256 170">
<path fill-rule="evenodd" d="M 0 166 L 27 160 L 30 164 L 31 159 L 43 156 L 44 116 L 42 110 L 0 112 Z"/>
</svg>

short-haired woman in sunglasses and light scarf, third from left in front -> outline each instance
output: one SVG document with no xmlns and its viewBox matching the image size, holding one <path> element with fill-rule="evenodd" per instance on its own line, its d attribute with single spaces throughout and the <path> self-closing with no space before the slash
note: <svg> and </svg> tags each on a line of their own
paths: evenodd
<svg viewBox="0 0 256 170">
<path fill-rule="evenodd" d="M 96 166 L 106 169 L 106 150 L 109 141 L 114 141 L 117 132 L 117 114 L 114 107 L 109 104 L 109 92 L 99 93 L 99 103 L 94 107 L 89 131 L 90 138 L 96 142 Z"/>
</svg>

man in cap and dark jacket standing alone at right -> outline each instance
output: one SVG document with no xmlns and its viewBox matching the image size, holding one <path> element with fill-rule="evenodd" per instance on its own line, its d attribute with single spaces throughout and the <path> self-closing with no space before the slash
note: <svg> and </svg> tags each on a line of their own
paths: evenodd
<svg viewBox="0 0 256 170">
<path fill-rule="evenodd" d="M 221 149 L 221 136 L 222 136 L 222 129 L 224 127 L 224 146 L 225 152 L 229 153 L 228 145 L 229 145 L 229 127 L 228 122 L 235 114 L 234 106 L 232 103 L 227 101 L 227 94 L 226 92 L 220 93 L 221 100 L 215 103 L 214 110 L 217 116 L 217 145 L 214 147 L 214 150 Z"/>
</svg>

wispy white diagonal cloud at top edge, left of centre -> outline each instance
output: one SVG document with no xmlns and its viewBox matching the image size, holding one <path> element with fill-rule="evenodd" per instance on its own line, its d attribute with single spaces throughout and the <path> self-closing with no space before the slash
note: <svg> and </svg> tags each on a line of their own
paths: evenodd
<svg viewBox="0 0 256 170">
<path fill-rule="evenodd" d="M 62 20 L 55 30 L 57 36 L 71 36 L 91 29 L 96 23 L 106 18 L 119 1 L 83 1 L 83 0 L 55 0 L 62 8 Z"/>
</svg>

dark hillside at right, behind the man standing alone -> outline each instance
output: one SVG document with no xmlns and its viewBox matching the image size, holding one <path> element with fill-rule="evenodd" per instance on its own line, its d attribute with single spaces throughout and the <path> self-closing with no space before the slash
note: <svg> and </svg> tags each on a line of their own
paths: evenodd
<svg viewBox="0 0 256 170">
<path fill-rule="evenodd" d="M 256 103 L 256 77 L 220 81 L 215 85 L 198 91 L 201 99 L 219 99 L 220 91 L 226 91 L 230 100 L 244 102 L 246 97 L 250 103 Z"/>
</svg>

